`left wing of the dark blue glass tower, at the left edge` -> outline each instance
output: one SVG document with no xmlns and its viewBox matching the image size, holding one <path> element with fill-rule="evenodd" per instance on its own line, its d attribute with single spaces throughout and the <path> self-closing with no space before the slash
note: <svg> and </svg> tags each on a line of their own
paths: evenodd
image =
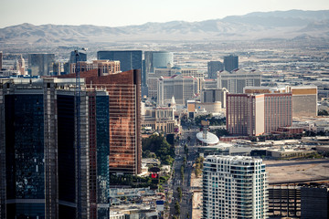
<svg viewBox="0 0 329 219">
<path fill-rule="evenodd" d="M 1 84 L 0 216 L 58 218 L 54 83 L 13 79 Z"/>
</svg>

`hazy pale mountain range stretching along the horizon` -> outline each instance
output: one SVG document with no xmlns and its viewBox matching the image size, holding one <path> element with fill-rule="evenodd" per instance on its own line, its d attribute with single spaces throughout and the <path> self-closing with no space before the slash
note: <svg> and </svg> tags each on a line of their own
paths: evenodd
<svg viewBox="0 0 329 219">
<path fill-rule="evenodd" d="M 172 21 L 141 26 L 22 24 L 0 29 L 0 44 L 80 44 L 148 40 L 253 40 L 328 38 L 329 10 L 254 12 L 200 22 Z"/>
</svg>

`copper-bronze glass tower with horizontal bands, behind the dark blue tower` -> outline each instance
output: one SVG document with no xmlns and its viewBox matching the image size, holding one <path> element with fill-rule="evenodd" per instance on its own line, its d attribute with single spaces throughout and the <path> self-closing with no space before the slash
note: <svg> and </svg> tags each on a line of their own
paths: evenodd
<svg viewBox="0 0 329 219">
<path fill-rule="evenodd" d="M 75 74 L 60 78 L 75 78 Z M 141 71 L 129 70 L 99 76 L 98 69 L 81 72 L 90 88 L 109 95 L 110 172 L 137 174 L 142 171 Z"/>
</svg>

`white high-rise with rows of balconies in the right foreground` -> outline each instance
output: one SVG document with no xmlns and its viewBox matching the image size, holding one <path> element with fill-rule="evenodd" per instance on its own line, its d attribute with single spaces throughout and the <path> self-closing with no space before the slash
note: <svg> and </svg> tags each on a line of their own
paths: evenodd
<svg viewBox="0 0 329 219">
<path fill-rule="evenodd" d="M 203 171 L 203 218 L 267 218 L 267 173 L 261 159 L 209 155 Z"/>
</svg>

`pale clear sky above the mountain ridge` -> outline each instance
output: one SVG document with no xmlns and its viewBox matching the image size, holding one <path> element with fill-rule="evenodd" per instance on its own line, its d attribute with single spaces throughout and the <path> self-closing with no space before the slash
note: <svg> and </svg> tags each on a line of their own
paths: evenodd
<svg viewBox="0 0 329 219">
<path fill-rule="evenodd" d="M 128 26 L 291 9 L 328 10 L 329 0 L 0 0 L 0 27 L 22 23 Z"/>
</svg>

